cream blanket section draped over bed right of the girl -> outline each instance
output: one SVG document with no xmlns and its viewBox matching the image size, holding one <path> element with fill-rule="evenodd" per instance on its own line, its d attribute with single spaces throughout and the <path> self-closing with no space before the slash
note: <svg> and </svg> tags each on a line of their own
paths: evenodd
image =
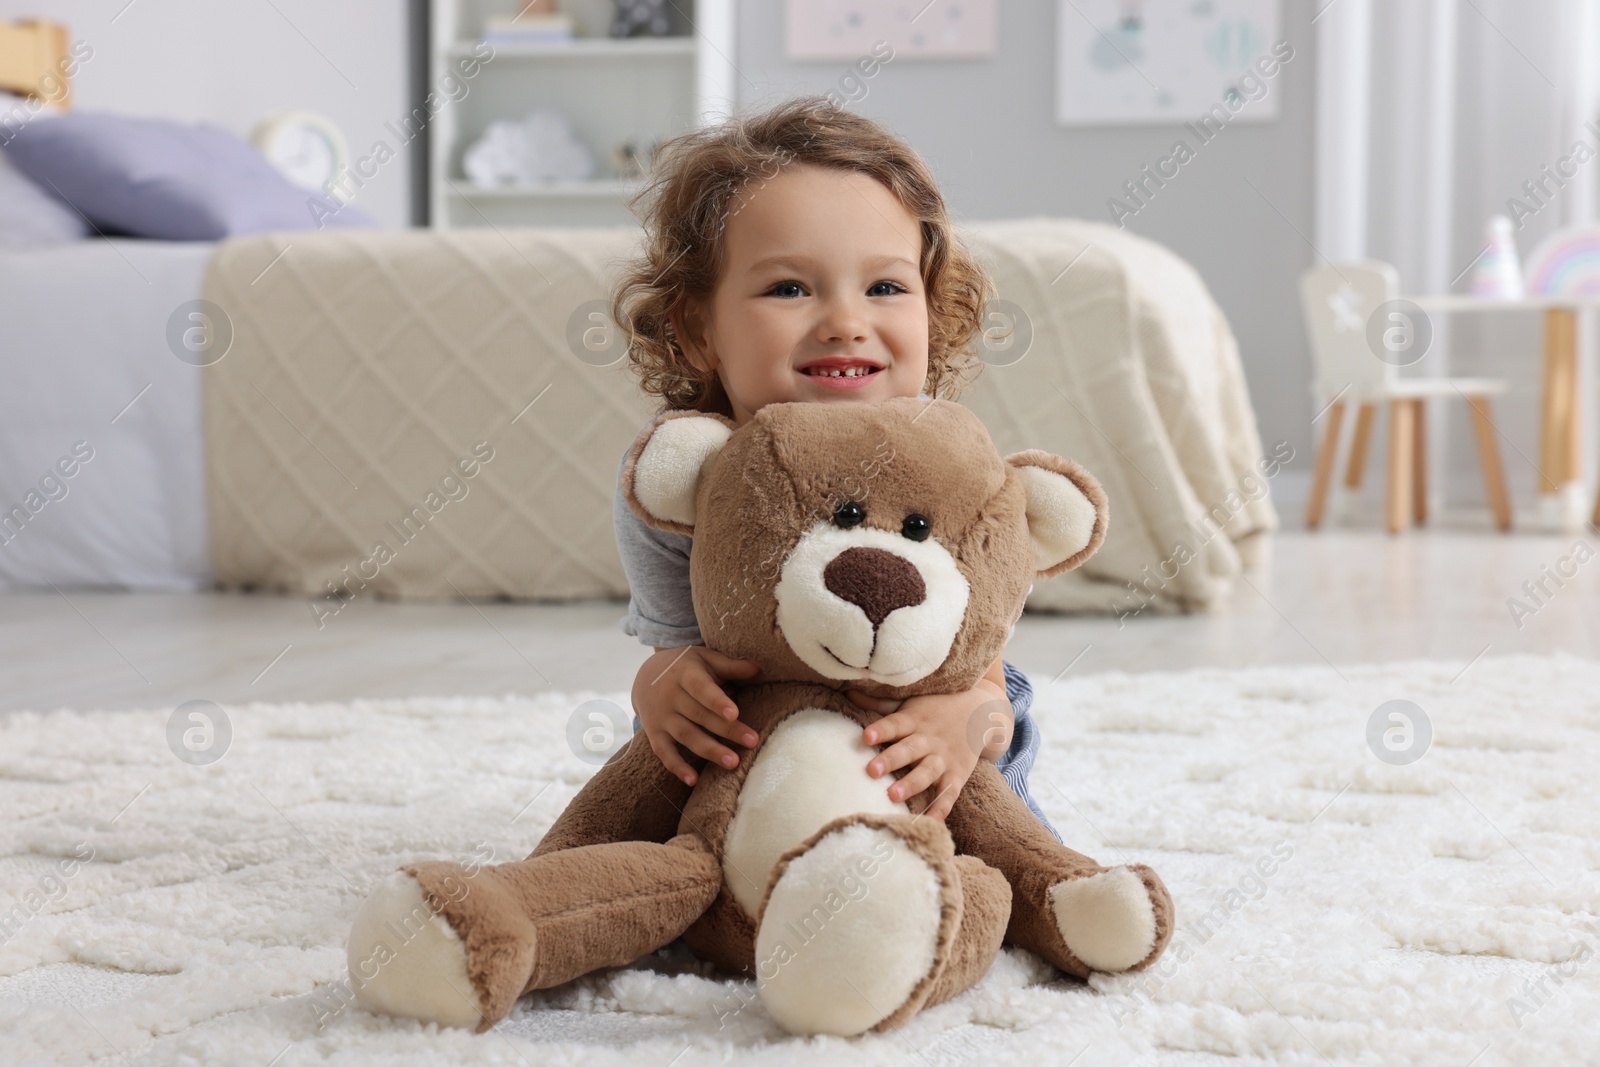
<svg viewBox="0 0 1600 1067">
<path fill-rule="evenodd" d="M 962 402 L 1000 451 L 1072 456 L 1110 498 L 1104 547 L 1082 569 L 1035 582 L 1029 608 L 1218 603 L 1278 528 L 1267 474 L 1293 451 L 1262 454 L 1234 333 L 1200 275 L 1101 222 L 1008 219 L 971 226 L 966 238 L 1032 344 L 1021 358 L 986 344 L 990 365 Z"/>
</svg>

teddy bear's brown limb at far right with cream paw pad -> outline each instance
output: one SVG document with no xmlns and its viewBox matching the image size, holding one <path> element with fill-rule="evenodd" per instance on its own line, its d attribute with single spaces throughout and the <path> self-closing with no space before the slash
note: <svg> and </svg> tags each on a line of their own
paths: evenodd
<svg viewBox="0 0 1600 1067">
<path fill-rule="evenodd" d="M 1173 936 L 1173 899 L 1144 864 L 1102 867 L 1058 841 L 992 763 L 946 819 L 955 846 L 1011 883 L 1006 941 L 1069 974 L 1139 971 Z"/>
</svg>

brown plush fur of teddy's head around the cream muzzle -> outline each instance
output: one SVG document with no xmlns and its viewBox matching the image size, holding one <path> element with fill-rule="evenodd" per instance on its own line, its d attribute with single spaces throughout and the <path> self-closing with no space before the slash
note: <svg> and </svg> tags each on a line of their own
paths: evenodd
<svg viewBox="0 0 1600 1067">
<path fill-rule="evenodd" d="M 958 403 L 901 398 L 872 408 L 842 419 L 834 405 L 774 403 L 728 440 L 696 502 L 690 587 L 701 638 L 762 664 L 763 677 L 837 686 L 784 641 L 771 589 L 800 534 L 853 499 L 866 507 L 864 525 L 891 533 L 907 512 L 926 515 L 970 585 L 966 625 L 934 673 L 910 686 L 864 678 L 858 688 L 883 697 L 970 689 L 1005 646 L 1034 581 L 1021 477 Z M 642 448 L 635 443 L 624 467 L 624 498 L 635 515 L 667 526 L 630 491 Z M 1101 493 L 1091 478 L 1085 485 Z"/>
</svg>

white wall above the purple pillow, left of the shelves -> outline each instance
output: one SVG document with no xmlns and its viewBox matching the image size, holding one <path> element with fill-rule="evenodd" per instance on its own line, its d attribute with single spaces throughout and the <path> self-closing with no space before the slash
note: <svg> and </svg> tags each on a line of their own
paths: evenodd
<svg viewBox="0 0 1600 1067">
<path fill-rule="evenodd" d="M 365 155 L 406 114 L 405 0 L 0 0 L 0 19 L 67 26 L 94 54 L 74 107 L 210 122 L 240 136 L 293 109 L 331 117 Z M 410 147 L 355 203 L 386 226 L 411 221 Z"/>
</svg>

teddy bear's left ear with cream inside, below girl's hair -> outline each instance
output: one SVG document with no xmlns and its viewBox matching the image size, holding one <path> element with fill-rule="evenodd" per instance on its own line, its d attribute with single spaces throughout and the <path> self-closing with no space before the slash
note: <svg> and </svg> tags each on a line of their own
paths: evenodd
<svg viewBox="0 0 1600 1067">
<path fill-rule="evenodd" d="M 656 530 L 694 533 L 694 493 L 734 424 L 720 414 L 667 411 L 638 435 L 622 466 L 622 499 Z"/>
</svg>

